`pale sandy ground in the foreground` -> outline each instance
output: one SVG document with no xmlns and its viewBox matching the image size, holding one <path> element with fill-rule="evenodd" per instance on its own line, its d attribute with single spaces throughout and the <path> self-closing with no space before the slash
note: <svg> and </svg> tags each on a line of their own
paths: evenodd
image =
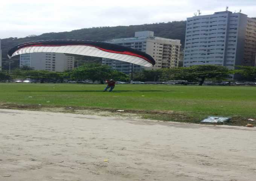
<svg viewBox="0 0 256 181">
<path fill-rule="evenodd" d="M 0 181 L 131 180 L 255 181 L 256 128 L 0 109 Z"/>
</svg>

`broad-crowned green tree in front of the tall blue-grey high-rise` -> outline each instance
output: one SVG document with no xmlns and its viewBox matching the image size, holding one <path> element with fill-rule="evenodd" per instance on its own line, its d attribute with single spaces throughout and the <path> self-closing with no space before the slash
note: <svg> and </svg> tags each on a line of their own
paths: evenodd
<svg viewBox="0 0 256 181">
<path fill-rule="evenodd" d="M 222 80 L 227 78 L 229 74 L 229 70 L 224 66 L 198 65 L 176 69 L 174 78 L 187 81 L 199 81 L 199 85 L 203 85 L 206 78 Z"/>
</svg>

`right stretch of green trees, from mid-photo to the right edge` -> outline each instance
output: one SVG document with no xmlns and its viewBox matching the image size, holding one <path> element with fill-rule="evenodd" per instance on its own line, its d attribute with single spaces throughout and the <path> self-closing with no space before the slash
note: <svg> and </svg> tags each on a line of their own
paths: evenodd
<svg viewBox="0 0 256 181">
<path fill-rule="evenodd" d="M 199 65 L 191 67 L 178 67 L 174 69 L 143 70 L 134 75 L 134 81 L 171 81 L 183 80 L 189 82 L 200 82 L 203 85 L 205 80 L 224 81 L 232 78 L 255 81 L 256 67 L 237 66 L 235 70 L 229 70 L 224 66 Z"/>
</svg>

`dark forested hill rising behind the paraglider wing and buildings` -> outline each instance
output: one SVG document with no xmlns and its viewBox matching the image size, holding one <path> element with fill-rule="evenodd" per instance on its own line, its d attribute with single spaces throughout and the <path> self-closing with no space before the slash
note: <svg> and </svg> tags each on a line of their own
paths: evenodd
<svg viewBox="0 0 256 181">
<path fill-rule="evenodd" d="M 167 23 L 154 23 L 143 25 L 117 26 L 117 27 L 95 27 L 83 28 L 69 32 L 44 33 L 39 36 L 30 36 L 24 38 L 10 37 L 2 39 L 2 55 L 6 60 L 7 52 L 13 46 L 30 41 L 51 40 L 51 39 L 73 39 L 73 40 L 95 40 L 104 41 L 113 38 L 133 37 L 135 31 L 154 31 L 155 36 L 180 39 L 184 45 L 186 21 L 173 21 Z M 5 65 L 3 65 L 5 67 Z"/>
</svg>

